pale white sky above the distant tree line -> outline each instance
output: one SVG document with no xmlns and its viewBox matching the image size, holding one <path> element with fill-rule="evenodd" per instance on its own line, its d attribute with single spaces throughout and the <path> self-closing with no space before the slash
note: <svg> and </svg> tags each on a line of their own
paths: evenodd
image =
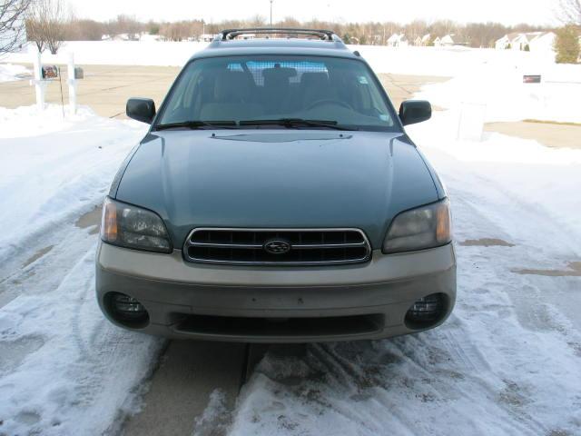
<svg viewBox="0 0 581 436">
<path fill-rule="evenodd" d="M 206 22 L 223 19 L 268 17 L 270 0 L 68 0 L 75 15 L 105 21 L 119 14 L 138 19 L 177 21 L 202 18 Z M 553 25 L 558 0 L 273 0 L 273 20 L 292 15 L 300 21 L 365 22 L 415 19 L 428 22 L 451 19 L 460 23 L 495 21 L 505 25 L 527 23 Z"/>
</svg>

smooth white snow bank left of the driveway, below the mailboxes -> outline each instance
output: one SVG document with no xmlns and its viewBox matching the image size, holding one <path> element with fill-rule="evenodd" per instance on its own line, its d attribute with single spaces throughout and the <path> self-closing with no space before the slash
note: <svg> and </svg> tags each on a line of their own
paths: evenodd
<svg viewBox="0 0 581 436">
<path fill-rule="evenodd" d="M 143 125 L 101 118 L 88 108 L 73 117 L 58 105 L 42 116 L 34 106 L 0 108 L 0 223 L 18 229 L 0 233 L 0 259 L 102 197 Z"/>
</svg>

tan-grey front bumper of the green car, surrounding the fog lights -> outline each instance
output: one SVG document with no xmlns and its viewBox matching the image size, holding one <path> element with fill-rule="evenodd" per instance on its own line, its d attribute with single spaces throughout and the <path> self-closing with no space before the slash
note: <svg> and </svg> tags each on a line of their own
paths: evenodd
<svg viewBox="0 0 581 436">
<path fill-rule="evenodd" d="M 145 253 L 100 243 L 96 292 L 113 323 L 127 328 L 113 320 L 106 295 L 123 292 L 149 312 L 147 325 L 133 330 L 173 338 L 380 339 L 425 330 L 404 319 L 413 302 L 428 294 L 446 295 L 445 313 L 429 328 L 446 320 L 456 300 L 456 258 L 448 244 L 415 253 L 375 251 L 369 263 L 357 265 L 232 267 L 187 263 L 179 250 Z"/>
</svg>

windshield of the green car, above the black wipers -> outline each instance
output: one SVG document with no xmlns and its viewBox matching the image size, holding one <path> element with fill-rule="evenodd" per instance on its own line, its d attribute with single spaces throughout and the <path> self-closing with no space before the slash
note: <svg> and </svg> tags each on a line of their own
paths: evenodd
<svg viewBox="0 0 581 436">
<path fill-rule="evenodd" d="M 158 126 L 192 122 L 260 126 L 247 122 L 286 120 L 281 125 L 325 128 L 324 123 L 288 123 L 309 120 L 395 131 L 399 127 L 394 116 L 369 67 L 357 60 L 232 56 L 188 64 L 164 104 Z"/>
</svg>

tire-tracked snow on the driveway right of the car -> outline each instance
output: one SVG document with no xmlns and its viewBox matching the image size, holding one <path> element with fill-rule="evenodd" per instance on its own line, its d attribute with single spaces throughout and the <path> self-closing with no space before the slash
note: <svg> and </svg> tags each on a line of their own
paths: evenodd
<svg viewBox="0 0 581 436">
<path fill-rule="evenodd" d="M 563 231 L 553 217 L 501 183 L 461 167 L 455 163 L 440 173 L 449 175 L 462 236 L 499 237 L 517 245 L 457 247 L 458 305 L 437 330 L 379 342 L 311 345 L 299 360 L 267 354 L 242 389 L 231 434 L 581 432 L 581 361 L 571 345 L 579 343 L 579 331 L 546 300 L 546 282 L 510 271 L 516 263 L 575 255 L 576 245 L 560 235 L 539 249 L 535 229 Z M 514 217 L 527 227 L 520 228 Z M 523 292 L 534 298 L 531 304 L 550 308 L 547 318 L 555 328 L 539 331 L 522 323 Z"/>
</svg>

